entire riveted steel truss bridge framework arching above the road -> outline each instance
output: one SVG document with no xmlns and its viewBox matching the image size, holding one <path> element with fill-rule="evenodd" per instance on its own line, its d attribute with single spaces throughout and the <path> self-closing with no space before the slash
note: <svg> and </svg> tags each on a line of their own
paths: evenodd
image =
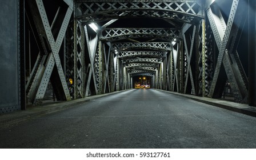
<svg viewBox="0 0 256 160">
<path fill-rule="evenodd" d="M 210 98 L 228 83 L 235 102 L 256 106 L 255 1 L 3 3 L 0 114 L 43 103 L 49 84 L 71 101 L 131 89 L 137 77 Z"/>
</svg>

